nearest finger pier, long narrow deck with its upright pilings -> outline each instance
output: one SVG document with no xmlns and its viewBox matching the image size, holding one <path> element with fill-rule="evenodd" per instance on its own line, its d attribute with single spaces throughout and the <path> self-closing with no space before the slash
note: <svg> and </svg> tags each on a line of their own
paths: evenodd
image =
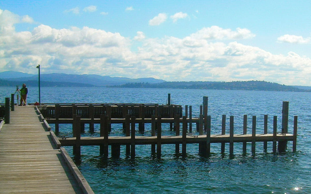
<svg viewBox="0 0 311 194">
<path fill-rule="evenodd" d="M 198 151 L 202 156 L 209 156 L 210 144 L 221 143 L 221 151 L 225 151 L 225 143 L 229 143 L 229 153 L 233 154 L 233 145 L 235 142 L 243 142 L 243 151 L 246 150 L 246 142 L 251 142 L 252 154 L 255 154 L 256 142 L 263 142 L 264 148 L 267 149 L 267 142 L 273 142 L 272 151 L 276 152 L 276 142 L 279 142 L 278 151 L 282 152 L 286 149 L 286 142 L 293 141 L 293 151 L 296 151 L 296 136 L 297 136 L 297 116 L 294 118 L 294 133 L 277 133 L 276 129 L 276 116 L 274 116 L 273 133 L 256 134 L 256 116 L 253 116 L 253 126 L 251 134 L 234 134 L 233 133 L 233 116 L 230 117 L 230 134 L 216 134 L 211 135 L 211 117 L 208 116 L 207 120 L 207 132 L 202 134 L 200 131 L 199 135 L 189 134 L 187 130 L 186 117 L 183 116 L 183 128 L 182 135 L 179 133 L 179 129 L 176 128 L 175 136 L 161 136 L 161 117 L 158 116 L 157 120 L 154 118 L 151 123 L 151 136 L 135 136 L 135 118 L 132 117 L 131 130 L 127 128 L 127 136 L 112 137 L 108 136 L 108 116 L 102 115 L 100 124 L 100 137 L 81 137 L 80 116 L 75 116 L 73 123 L 73 136 L 72 138 L 59 138 L 62 146 L 73 146 L 74 154 L 79 158 L 81 155 L 81 146 L 100 146 L 100 154 L 108 157 L 108 146 L 111 146 L 111 155 L 113 157 L 120 156 L 120 145 L 126 145 L 127 154 L 131 154 L 131 157 L 135 157 L 135 146 L 136 145 L 151 145 L 151 153 L 156 153 L 157 157 L 161 157 L 161 145 L 163 144 L 176 144 L 175 151 L 179 153 L 180 145 L 182 146 L 182 155 L 186 156 L 186 145 L 189 143 L 196 143 L 199 145 Z M 176 123 L 178 125 L 178 123 Z M 127 124 L 129 125 L 129 124 Z M 157 125 L 157 134 L 155 128 Z M 285 142 L 285 145 L 280 144 Z M 157 148 L 155 148 L 155 145 Z M 285 147 L 284 147 L 285 146 Z"/>
</svg>

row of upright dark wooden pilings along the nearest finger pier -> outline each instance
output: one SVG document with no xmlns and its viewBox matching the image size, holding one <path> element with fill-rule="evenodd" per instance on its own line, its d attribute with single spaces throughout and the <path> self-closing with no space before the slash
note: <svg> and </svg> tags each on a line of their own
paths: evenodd
<svg viewBox="0 0 311 194">
<path fill-rule="evenodd" d="M 179 115 L 175 115 L 176 118 L 179 118 Z M 140 144 L 151 144 L 151 153 L 155 154 L 158 158 L 161 157 L 161 144 L 163 143 L 161 141 L 161 116 L 155 116 L 152 115 L 151 118 L 151 136 L 156 136 L 156 142 L 145 142 Z M 298 117 L 294 116 L 294 133 L 293 138 L 291 141 L 293 141 L 293 151 L 296 151 L 296 137 L 297 137 L 297 120 Z M 264 115 L 264 133 L 267 134 L 268 132 L 268 115 Z M 200 116 L 200 123 L 202 126 L 203 117 Z M 198 143 L 199 144 L 199 152 L 202 154 L 202 156 L 209 156 L 210 155 L 210 144 L 211 142 L 211 116 L 208 115 L 207 119 L 207 128 L 206 128 L 206 138 L 204 141 L 202 139 L 192 138 L 192 143 Z M 100 155 L 103 155 L 104 157 L 108 157 L 108 146 L 111 145 L 111 155 L 113 157 L 119 157 L 120 156 L 120 145 L 126 145 L 126 154 L 131 156 L 131 158 L 135 157 L 135 145 L 137 145 L 135 138 L 135 116 L 126 115 L 126 121 L 125 121 L 125 129 L 126 129 L 126 136 L 130 136 L 130 143 L 110 143 L 109 142 L 109 118 L 108 116 L 101 115 L 100 116 L 100 137 L 103 137 L 102 143 L 98 143 L 97 145 L 100 146 Z M 226 123 L 226 115 L 222 115 L 222 130 L 221 135 L 225 135 L 225 126 Z M 187 124 L 187 117 L 182 117 L 182 156 L 186 156 L 186 145 L 187 145 L 187 138 L 189 138 L 189 135 L 193 136 L 193 134 L 188 134 L 188 124 Z M 73 121 L 73 137 L 76 138 L 75 144 L 73 145 L 74 154 L 77 158 L 80 158 L 81 156 L 81 118 L 80 116 L 74 115 L 74 121 Z M 180 136 L 180 125 L 179 120 L 175 120 L 174 122 L 174 130 L 176 132 L 176 136 Z M 157 131 L 157 133 L 156 133 Z M 282 135 L 286 135 L 288 133 L 288 102 L 283 102 L 283 116 L 282 116 Z M 244 115 L 243 119 L 243 135 L 247 134 L 247 115 Z M 199 129 L 199 136 L 203 135 L 203 127 L 200 127 Z M 187 137 L 188 136 L 188 137 Z M 280 137 L 280 136 L 278 136 Z M 122 138 L 122 137 L 120 137 Z M 65 140 L 64 140 L 65 141 Z M 278 141 L 278 151 L 284 152 L 287 147 L 287 140 L 280 140 L 277 138 L 277 116 L 273 117 L 273 138 L 271 140 L 273 142 L 272 144 L 272 151 L 276 152 L 276 142 Z M 230 155 L 233 155 L 234 152 L 234 142 L 243 142 L 243 152 L 246 152 L 246 143 L 249 141 L 246 140 L 239 140 L 234 141 L 234 116 L 230 116 L 230 137 L 228 140 L 221 140 L 221 152 L 225 152 L 225 143 L 229 143 L 229 153 Z M 252 134 L 251 134 L 251 151 L 252 154 L 255 154 L 255 148 L 256 148 L 256 142 L 263 142 L 263 149 L 267 150 L 267 140 L 264 138 L 261 138 L 260 136 L 256 136 L 256 116 L 252 117 Z M 165 142 L 166 144 L 168 142 Z M 219 142 L 218 142 L 219 143 Z M 169 142 L 169 144 L 175 144 L 175 152 L 179 153 L 180 150 L 180 143 L 177 142 Z"/>
</svg>

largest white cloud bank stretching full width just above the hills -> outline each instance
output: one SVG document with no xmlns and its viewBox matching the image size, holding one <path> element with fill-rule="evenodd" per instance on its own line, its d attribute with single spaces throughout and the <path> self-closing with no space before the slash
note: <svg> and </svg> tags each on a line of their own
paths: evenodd
<svg viewBox="0 0 311 194">
<path fill-rule="evenodd" d="M 248 29 L 212 26 L 183 38 L 146 38 L 138 31 L 135 41 L 131 41 L 119 33 L 89 27 L 55 29 L 39 25 L 31 32 L 16 32 L 14 24 L 18 22 L 19 16 L 0 10 L 0 71 L 22 69 L 34 74 L 36 65 L 41 64 L 44 73 L 154 77 L 167 81 L 257 79 L 311 85 L 310 58 L 294 52 L 276 55 L 234 42 L 254 37 Z M 227 41 L 221 41 L 224 39 Z M 141 43 L 134 52 L 131 48 L 136 41 Z"/>
</svg>

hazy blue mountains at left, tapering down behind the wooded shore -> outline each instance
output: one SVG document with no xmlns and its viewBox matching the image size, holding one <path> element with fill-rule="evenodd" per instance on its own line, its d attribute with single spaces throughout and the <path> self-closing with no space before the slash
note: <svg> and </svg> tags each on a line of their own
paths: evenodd
<svg viewBox="0 0 311 194">
<path fill-rule="evenodd" d="M 26 83 L 27 86 L 38 86 L 38 75 L 26 74 L 16 71 L 4 71 L 0 73 L 0 86 L 16 86 Z M 122 85 L 125 83 L 161 83 L 162 79 L 100 76 L 95 74 L 40 74 L 40 85 L 45 87 L 98 87 Z"/>
</svg>

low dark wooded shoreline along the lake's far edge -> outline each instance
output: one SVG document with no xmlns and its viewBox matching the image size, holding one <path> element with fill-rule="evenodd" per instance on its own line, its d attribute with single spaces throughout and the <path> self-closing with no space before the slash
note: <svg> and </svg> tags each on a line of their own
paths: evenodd
<svg viewBox="0 0 311 194">
<path fill-rule="evenodd" d="M 38 81 L 9 81 L 0 79 L 0 86 L 15 87 L 26 83 L 29 87 L 38 87 Z M 302 89 L 298 86 L 287 86 L 284 84 L 267 82 L 267 81 L 232 81 L 232 82 L 216 82 L 216 81 L 190 81 L 190 82 L 161 82 L 148 83 L 136 82 L 111 86 L 96 86 L 87 83 L 76 82 L 50 82 L 41 81 L 42 87 L 109 87 L 109 88 L 172 88 L 172 89 L 213 89 L 213 90 L 259 90 L 259 91 L 288 91 L 288 92 L 311 92 L 310 89 Z"/>
</svg>

